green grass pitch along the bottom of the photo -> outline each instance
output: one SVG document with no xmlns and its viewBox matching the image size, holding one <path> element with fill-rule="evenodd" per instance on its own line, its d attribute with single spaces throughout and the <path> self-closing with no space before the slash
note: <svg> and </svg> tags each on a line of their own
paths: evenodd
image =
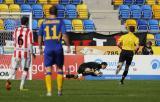
<svg viewBox="0 0 160 102">
<path fill-rule="evenodd" d="M 64 82 L 63 96 L 58 97 L 56 82 L 52 97 L 45 96 L 43 81 L 27 81 L 27 92 L 18 90 L 20 81 L 12 81 L 12 89 L 6 91 L 5 81 L 0 81 L 0 102 L 160 102 L 160 81 L 116 80 Z"/>
</svg>

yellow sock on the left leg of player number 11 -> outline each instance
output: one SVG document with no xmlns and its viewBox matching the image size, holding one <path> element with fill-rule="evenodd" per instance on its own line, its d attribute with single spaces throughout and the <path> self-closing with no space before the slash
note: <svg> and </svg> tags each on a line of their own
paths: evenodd
<svg viewBox="0 0 160 102">
<path fill-rule="evenodd" d="M 51 69 L 47 70 L 46 76 L 45 76 L 45 83 L 47 88 L 47 93 L 51 93 L 52 91 L 52 73 Z"/>
</svg>

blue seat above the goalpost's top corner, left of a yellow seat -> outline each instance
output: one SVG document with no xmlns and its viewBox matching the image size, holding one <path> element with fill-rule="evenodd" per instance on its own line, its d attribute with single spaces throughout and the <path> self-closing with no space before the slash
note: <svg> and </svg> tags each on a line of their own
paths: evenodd
<svg viewBox="0 0 160 102">
<path fill-rule="evenodd" d="M 43 8 L 40 4 L 32 5 L 33 17 L 34 18 L 43 18 Z"/>
</svg>

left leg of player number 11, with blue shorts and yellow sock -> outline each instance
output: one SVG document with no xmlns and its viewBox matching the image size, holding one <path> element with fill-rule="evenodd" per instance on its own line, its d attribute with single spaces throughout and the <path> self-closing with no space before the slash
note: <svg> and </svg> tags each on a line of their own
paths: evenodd
<svg viewBox="0 0 160 102">
<path fill-rule="evenodd" d="M 52 65 L 54 62 L 53 52 L 44 53 L 44 64 L 45 64 L 45 84 L 47 89 L 47 96 L 52 95 Z"/>
</svg>

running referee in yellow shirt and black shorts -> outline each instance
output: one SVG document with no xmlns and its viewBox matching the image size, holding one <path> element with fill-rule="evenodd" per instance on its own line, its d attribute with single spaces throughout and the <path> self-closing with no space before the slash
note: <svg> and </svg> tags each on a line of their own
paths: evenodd
<svg viewBox="0 0 160 102">
<path fill-rule="evenodd" d="M 124 84 L 123 81 L 128 74 L 129 66 L 131 65 L 133 55 L 139 49 L 139 38 L 134 35 L 136 27 L 129 26 L 128 34 L 123 35 L 118 40 L 117 46 L 122 50 L 119 56 L 119 63 L 116 70 L 116 75 L 122 69 L 124 62 L 126 61 L 125 70 L 120 80 L 120 84 Z"/>
</svg>

